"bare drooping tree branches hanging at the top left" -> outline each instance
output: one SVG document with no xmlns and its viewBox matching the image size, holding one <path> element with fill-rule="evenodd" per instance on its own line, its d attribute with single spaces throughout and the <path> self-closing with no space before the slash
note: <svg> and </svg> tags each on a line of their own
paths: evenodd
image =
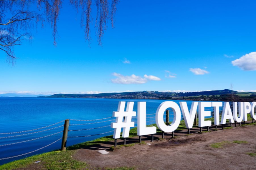
<svg viewBox="0 0 256 170">
<path fill-rule="evenodd" d="M 53 44 L 57 45 L 57 21 L 63 0 L 0 0 L 0 49 L 6 53 L 12 63 L 17 58 L 13 48 L 23 40 L 31 40 L 29 30 L 38 23 L 44 27 L 45 23 L 52 26 Z M 107 21 L 111 20 L 114 27 L 116 5 L 119 0 L 69 0 L 77 13 L 81 13 L 81 26 L 84 28 L 85 39 L 90 43 L 92 5 L 97 8 L 95 28 L 99 45 L 107 29 Z M 36 6 L 36 11 L 32 11 Z"/>
</svg>

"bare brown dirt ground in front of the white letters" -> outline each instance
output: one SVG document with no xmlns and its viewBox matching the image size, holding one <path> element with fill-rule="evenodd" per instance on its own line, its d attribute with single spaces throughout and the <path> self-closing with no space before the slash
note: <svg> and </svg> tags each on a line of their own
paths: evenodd
<svg viewBox="0 0 256 170">
<path fill-rule="evenodd" d="M 234 126 L 234 125 L 233 125 Z M 211 132 L 198 133 L 198 129 L 191 130 L 192 134 L 186 136 L 187 130 L 175 133 L 177 138 L 165 134 L 165 140 L 150 142 L 151 136 L 142 137 L 148 144 L 135 144 L 131 147 L 122 147 L 114 152 L 102 155 L 99 149 L 108 149 L 113 142 L 97 144 L 90 148 L 79 149 L 73 156 L 75 159 L 85 161 L 92 167 L 135 167 L 139 170 L 236 170 L 256 169 L 256 157 L 247 152 L 256 153 L 256 126 L 233 127 Z M 205 129 L 204 129 L 205 130 Z M 156 135 L 155 139 L 160 138 Z M 127 139 L 127 143 L 138 142 L 138 137 Z M 237 144 L 233 141 L 246 141 Z M 210 144 L 229 141 L 222 148 L 212 148 Z M 123 144 L 118 140 L 118 144 Z"/>
</svg>

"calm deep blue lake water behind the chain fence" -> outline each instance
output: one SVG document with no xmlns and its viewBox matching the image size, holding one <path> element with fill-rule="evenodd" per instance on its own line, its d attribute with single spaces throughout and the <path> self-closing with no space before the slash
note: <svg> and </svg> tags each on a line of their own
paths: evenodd
<svg viewBox="0 0 256 170">
<path fill-rule="evenodd" d="M 138 101 L 146 101 L 147 102 L 147 114 L 156 113 L 157 107 L 166 100 L 136 100 L 136 99 L 58 99 L 58 98 L 0 98 L 0 133 L 7 132 L 19 132 L 30 129 L 37 129 L 41 127 L 45 127 L 65 119 L 79 119 L 79 120 L 93 120 L 93 119 L 101 119 L 112 116 L 113 111 L 117 111 L 118 102 L 119 101 L 134 101 L 133 111 L 137 112 L 137 102 Z M 181 100 L 173 100 L 174 102 L 179 104 Z M 190 109 L 192 101 L 187 101 L 188 108 Z M 153 117 L 154 115 L 148 115 L 147 117 Z M 78 125 L 78 126 L 69 126 L 69 130 L 76 129 L 90 129 L 102 126 L 108 126 L 111 122 L 114 122 L 109 118 L 99 121 L 70 121 L 69 124 L 83 124 L 83 123 L 92 123 L 92 122 L 101 122 L 89 125 Z M 165 117 L 164 117 L 165 119 Z M 110 121 L 112 120 L 112 121 Z M 108 122 L 102 122 L 108 121 Z M 132 121 L 137 121 L 136 117 L 132 118 Z M 155 123 L 155 118 L 147 118 L 147 124 Z M 172 121 L 172 116 L 170 115 L 170 121 Z M 62 137 L 62 133 L 58 133 L 49 137 L 44 137 L 47 135 L 51 135 L 63 130 L 63 126 L 52 129 L 58 126 L 63 125 L 64 122 L 58 123 L 56 125 L 34 130 L 28 131 L 24 133 L 13 133 L 13 134 L 0 134 L 0 159 L 6 157 L 12 157 L 16 155 L 21 155 L 23 153 L 28 153 L 34 151 L 36 149 L 42 148 L 57 139 Z M 135 123 L 137 126 L 137 123 Z M 41 130 L 47 130 L 39 133 L 17 136 L 17 137 L 9 137 L 22 135 L 27 133 L 38 132 Z M 87 136 L 94 135 L 103 132 L 112 131 L 113 129 L 110 126 L 100 129 L 92 129 L 92 130 L 84 130 L 84 131 L 70 131 L 68 132 L 68 136 Z M 82 143 L 85 141 L 93 140 L 99 137 L 113 135 L 113 132 L 91 136 L 91 137 L 75 137 L 68 138 L 67 146 Z M 8 137 L 8 138 L 3 138 Z M 38 140 L 33 140 L 29 142 L 11 144 L 21 141 L 26 141 L 38 137 L 44 137 Z M 12 158 L 0 160 L 0 164 L 4 164 L 13 160 L 22 159 L 25 157 L 29 157 L 35 154 L 40 154 L 43 152 L 49 152 L 55 149 L 60 149 L 61 140 L 58 142 L 41 149 L 39 151 Z"/>
</svg>

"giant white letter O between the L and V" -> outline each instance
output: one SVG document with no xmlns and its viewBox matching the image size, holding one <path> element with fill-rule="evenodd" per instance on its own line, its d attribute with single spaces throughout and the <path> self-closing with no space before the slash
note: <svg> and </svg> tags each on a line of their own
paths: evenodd
<svg viewBox="0 0 256 170">
<path fill-rule="evenodd" d="M 174 113 L 172 124 L 169 126 L 165 125 L 164 119 L 163 119 L 164 112 L 167 108 L 172 108 Z M 161 103 L 156 110 L 156 125 L 159 129 L 161 129 L 166 133 L 173 132 L 179 127 L 180 118 L 181 118 L 180 107 L 177 103 L 173 101 L 165 101 Z"/>
</svg>

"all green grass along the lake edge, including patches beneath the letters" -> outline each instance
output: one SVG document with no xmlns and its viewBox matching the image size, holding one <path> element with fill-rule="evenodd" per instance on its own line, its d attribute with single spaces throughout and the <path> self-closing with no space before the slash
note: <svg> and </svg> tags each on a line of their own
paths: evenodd
<svg viewBox="0 0 256 170">
<path fill-rule="evenodd" d="M 214 122 L 214 118 L 208 118 L 206 120 L 211 120 Z M 250 115 L 248 115 L 248 121 L 252 121 Z M 255 123 L 247 123 L 246 125 L 252 125 Z M 149 126 L 156 126 L 156 124 L 152 124 Z M 194 126 L 197 127 L 197 126 Z M 185 121 L 181 121 L 178 129 L 176 131 L 181 131 L 186 129 Z M 161 133 L 162 131 L 157 128 L 157 133 Z M 130 130 L 129 137 L 137 136 L 137 128 L 133 128 Z M 76 144 L 67 148 L 66 151 L 52 151 L 39 155 L 34 155 L 25 159 L 16 160 L 7 164 L 0 166 L 0 170 L 12 170 L 12 169 L 46 169 L 46 170 L 61 170 L 61 169 L 70 169 L 70 170 L 80 170 L 80 169 L 97 169 L 91 167 L 85 162 L 81 162 L 72 158 L 72 156 L 76 153 L 77 149 L 86 148 L 90 145 L 102 144 L 104 142 L 113 141 L 113 136 L 101 137 L 92 141 L 87 141 L 84 143 Z M 134 143 L 138 144 L 138 143 Z M 134 144 L 130 144 L 133 146 Z M 127 145 L 127 146 L 130 146 Z M 123 147 L 123 146 L 118 146 Z M 118 148 L 112 148 L 113 150 Z M 39 163 L 35 163 L 40 161 Z M 108 168 L 109 170 L 134 170 L 134 167 L 118 167 L 118 168 Z"/>
</svg>

